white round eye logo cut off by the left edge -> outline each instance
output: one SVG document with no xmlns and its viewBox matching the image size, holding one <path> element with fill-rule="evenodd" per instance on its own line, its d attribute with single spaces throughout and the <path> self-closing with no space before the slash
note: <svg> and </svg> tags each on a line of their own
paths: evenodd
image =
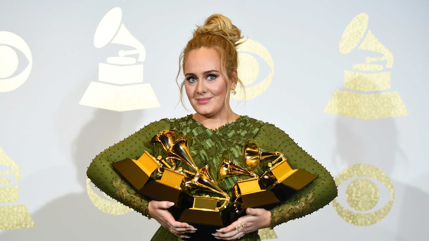
<svg viewBox="0 0 429 241">
<path fill-rule="evenodd" d="M 20 61 L 20 55 L 28 60 L 22 71 L 19 71 L 19 67 L 24 61 Z M 21 86 L 30 75 L 32 66 L 33 60 L 27 43 L 14 33 L 0 31 L 0 92 L 12 91 Z"/>
</svg>

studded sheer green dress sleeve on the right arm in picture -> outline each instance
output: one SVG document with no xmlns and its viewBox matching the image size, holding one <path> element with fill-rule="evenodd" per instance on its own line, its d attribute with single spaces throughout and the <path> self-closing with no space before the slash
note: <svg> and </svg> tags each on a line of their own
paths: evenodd
<svg viewBox="0 0 429 241">
<path fill-rule="evenodd" d="M 271 229 L 289 220 L 310 214 L 336 197 L 337 188 L 330 173 L 285 132 L 274 125 L 265 124 L 256 141 L 259 148 L 283 153 L 292 168 L 305 169 L 318 176 L 285 203 L 271 209 Z"/>
</svg>

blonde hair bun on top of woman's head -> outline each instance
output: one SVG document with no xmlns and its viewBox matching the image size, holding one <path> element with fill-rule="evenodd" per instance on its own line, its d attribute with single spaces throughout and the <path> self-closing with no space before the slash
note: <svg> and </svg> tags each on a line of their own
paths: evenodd
<svg viewBox="0 0 429 241">
<path fill-rule="evenodd" d="M 215 13 L 208 17 L 202 26 L 197 25 L 194 31 L 194 37 L 197 35 L 220 35 L 231 42 L 234 47 L 238 47 L 241 36 L 241 30 L 232 24 L 231 20 L 222 14 Z"/>
</svg>

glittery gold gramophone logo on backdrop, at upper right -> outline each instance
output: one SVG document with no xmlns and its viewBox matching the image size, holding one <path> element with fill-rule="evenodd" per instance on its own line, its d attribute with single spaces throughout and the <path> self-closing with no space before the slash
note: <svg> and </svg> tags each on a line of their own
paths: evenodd
<svg viewBox="0 0 429 241">
<path fill-rule="evenodd" d="M 356 47 L 376 54 L 374 57 L 366 57 L 364 64 L 353 65 L 353 71 L 344 72 L 344 87 L 350 90 L 336 90 L 324 112 L 360 119 L 408 115 L 399 93 L 385 92 L 390 89 L 389 69 L 393 66 L 393 55 L 368 29 L 366 13 L 361 13 L 350 21 L 339 43 L 342 54 L 348 54 Z"/>
</svg>

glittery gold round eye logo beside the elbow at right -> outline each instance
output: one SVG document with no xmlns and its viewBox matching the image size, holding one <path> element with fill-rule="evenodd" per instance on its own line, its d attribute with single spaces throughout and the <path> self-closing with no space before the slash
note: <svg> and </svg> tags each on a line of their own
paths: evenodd
<svg viewBox="0 0 429 241">
<path fill-rule="evenodd" d="M 373 225 L 384 219 L 392 208 L 395 196 L 393 184 L 386 173 L 376 166 L 349 166 L 338 174 L 335 183 L 338 197 L 332 201 L 332 206 L 350 224 Z"/>
</svg>

